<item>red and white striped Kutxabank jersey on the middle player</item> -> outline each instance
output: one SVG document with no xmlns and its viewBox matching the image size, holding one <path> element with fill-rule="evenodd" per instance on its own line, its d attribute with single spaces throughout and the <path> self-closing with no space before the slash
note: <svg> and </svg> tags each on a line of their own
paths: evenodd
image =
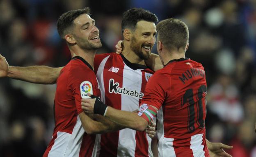
<svg viewBox="0 0 256 157">
<path fill-rule="evenodd" d="M 123 55 L 96 55 L 94 69 L 103 103 L 123 111 L 135 111 L 153 71 L 133 64 Z M 145 132 L 125 128 L 101 135 L 100 157 L 152 157 L 151 138 Z"/>
</svg>

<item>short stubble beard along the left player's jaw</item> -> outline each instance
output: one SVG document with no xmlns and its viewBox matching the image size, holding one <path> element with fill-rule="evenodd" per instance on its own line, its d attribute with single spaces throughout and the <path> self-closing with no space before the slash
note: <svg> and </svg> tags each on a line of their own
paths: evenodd
<svg viewBox="0 0 256 157">
<path fill-rule="evenodd" d="M 88 39 L 84 39 L 84 38 L 80 38 L 78 36 L 75 36 L 76 42 L 78 44 L 78 46 L 81 49 L 87 49 L 87 50 L 97 50 L 99 48 L 101 48 L 102 44 L 101 41 L 99 42 L 91 42 Z"/>
</svg>

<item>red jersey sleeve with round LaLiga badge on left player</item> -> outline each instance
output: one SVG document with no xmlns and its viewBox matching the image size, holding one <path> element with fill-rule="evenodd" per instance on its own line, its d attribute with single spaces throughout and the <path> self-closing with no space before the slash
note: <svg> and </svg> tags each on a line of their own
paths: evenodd
<svg viewBox="0 0 256 157">
<path fill-rule="evenodd" d="M 84 67 L 83 67 L 84 68 Z M 86 75 L 81 75 L 86 73 Z M 93 71 L 85 71 L 82 68 L 71 69 L 69 81 L 69 90 L 72 92 L 72 96 L 75 99 L 75 106 L 78 114 L 82 113 L 81 99 L 90 98 L 88 93 L 93 94 L 93 87 L 95 86 L 92 82 L 94 77 Z"/>
</svg>

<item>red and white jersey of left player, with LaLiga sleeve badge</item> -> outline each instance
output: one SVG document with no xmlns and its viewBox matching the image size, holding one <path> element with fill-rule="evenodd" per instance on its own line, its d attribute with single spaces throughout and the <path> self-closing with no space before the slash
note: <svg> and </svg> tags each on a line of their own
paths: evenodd
<svg viewBox="0 0 256 157">
<path fill-rule="evenodd" d="M 101 94 L 96 75 L 82 57 L 73 57 L 57 79 L 55 128 L 43 157 L 96 157 L 99 139 L 85 133 L 78 116 L 88 93 Z"/>
</svg>

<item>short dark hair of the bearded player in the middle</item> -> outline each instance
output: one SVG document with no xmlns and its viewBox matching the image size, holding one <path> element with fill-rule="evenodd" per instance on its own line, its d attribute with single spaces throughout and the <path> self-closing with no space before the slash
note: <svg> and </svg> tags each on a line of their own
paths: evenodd
<svg viewBox="0 0 256 157">
<path fill-rule="evenodd" d="M 124 29 L 129 28 L 134 30 L 137 22 L 145 20 L 148 22 L 154 22 L 155 24 L 158 22 L 158 17 L 151 13 L 148 10 L 142 8 L 133 8 L 123 13 L 122 19 L 122 33 Z"/>
</svg>

